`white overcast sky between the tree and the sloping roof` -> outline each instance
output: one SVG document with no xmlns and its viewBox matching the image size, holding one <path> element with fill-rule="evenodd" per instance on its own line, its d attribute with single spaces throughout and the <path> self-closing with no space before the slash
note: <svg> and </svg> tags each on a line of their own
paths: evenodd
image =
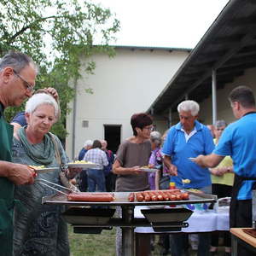
<svg viewBox="0 0 256 256">
<path fill-rule="evenodd" d="M 115 45 L 194 48 L 228 0 L 92 0 L 120 20 Z"/>
</svg>

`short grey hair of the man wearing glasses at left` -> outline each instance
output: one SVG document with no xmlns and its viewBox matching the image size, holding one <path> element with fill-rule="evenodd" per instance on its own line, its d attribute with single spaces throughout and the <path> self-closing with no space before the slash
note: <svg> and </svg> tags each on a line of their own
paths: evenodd
<svg viewBox="0 0 256 256">
<path fill-rule="evenodd" d="M 20 73 L 23 68 L 29 65 L 32 65 L 32 67 L 35 68 L 36 73 L 38 73 L 38 66 L 34 61 L 32 61 L 30 56 L 18 51 L 10 50 L 8 54 L 4 55 L 3 58 L 0 59 L 0 72 L 5 67 L 13 67 L 15 72 Z"/>
</svg>

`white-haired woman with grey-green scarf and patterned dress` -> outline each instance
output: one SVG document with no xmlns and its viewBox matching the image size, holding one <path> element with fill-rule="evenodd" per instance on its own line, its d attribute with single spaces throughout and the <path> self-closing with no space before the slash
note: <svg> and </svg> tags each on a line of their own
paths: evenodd
<svg viewBox="0 0 256 256">
<path fill-rule="evenodd" d="M 40 93 L 26 102 L 27 126 L 15 133 L 13 160 L 31 166 L 59 166 L 55 157 L 55 145 L 61 163 L 67 163 L 67 155 L 57 137 L 49 134 L 59 113 L 58 104 L 52 96 Z M 55 141 L 55 142 L 54 142 Z M 66 176 L 73 178 L 80 169 L 67 169 Z M 60 170 L 38 173 L 44 178 L 60 184 Z M 35 183 L 16 186 L 15 199 L 21 206 L 15 209 L 14 255 L 69 255 L 67 224 L 61 218 L 62 207 L 42 205 L 42 197 L 55 191 Z"/>
</svg>

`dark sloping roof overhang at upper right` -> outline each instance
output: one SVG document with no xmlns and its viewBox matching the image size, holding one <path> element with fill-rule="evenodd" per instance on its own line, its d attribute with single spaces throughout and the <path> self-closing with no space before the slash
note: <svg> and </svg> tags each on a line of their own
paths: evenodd
<svg viewBox="0 0 256 256">
<path fill-rule="evenodd" d="M 256 1 L 230 0 L 148 112 L 177 111 L 186 96 L 202 102 L 212 94 L 212 70 L 218 90 L 251 67 L 256 67 Z"/>
</svg>

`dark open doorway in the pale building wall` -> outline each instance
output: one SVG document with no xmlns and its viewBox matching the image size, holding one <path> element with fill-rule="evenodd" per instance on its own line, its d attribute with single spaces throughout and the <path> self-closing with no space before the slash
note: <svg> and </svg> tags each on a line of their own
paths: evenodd
<svg viewBox="0 0 256 256">
<path fill-rule="evenodd" d="M 122 125 L 104 125 L 104 139 L 108 142 L 108 149 L 116 154 L 121 141 Z"/>
</svg>

